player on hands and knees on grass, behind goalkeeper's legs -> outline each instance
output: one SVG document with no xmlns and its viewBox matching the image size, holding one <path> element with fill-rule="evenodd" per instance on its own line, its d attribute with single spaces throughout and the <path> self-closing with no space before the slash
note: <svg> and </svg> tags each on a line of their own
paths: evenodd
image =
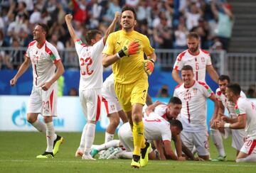
<svg viewBox="0 0 256 173">
<path fill-rule="evenodd" d="M 171 149 L 171 135 L 181 133 L 182 125 L 180 121 L 166 121 L 164 118 L 151 113 L 150 117 L 143 118 L 144 122 L 144 135 L 146 140 L 155 141 L 156 149 L 159 150 L 160 160 L 185 160 L 185 157 L 177 157 L 174 151 Z M 123 146 L 125 150 L 116 149 L 113 153 L 103 153 L 100 157 L 102 158 L 132 158 L 133 150 L 133 138 L 132 131 L 129 128 L 129 123 L 124 123 L 118 131 L 119 140 L 112 140 L 109 143 L 96 146 L 92 149 L 92 157 L 94 157 L 100 150 L 106 150 L 109 147 L 120 147 Z M 163 146 L 161 145 L 163 143 Z M 112 149 L 109 151 L 111 152 Z M 166 155 L 164 155 L 164 153 Z M 111 155 L 112 154 L 112 155 Z M 146 156 L 147 157 L 147 156 Z M 149 159 L 156 159 L 153 150 L 149 152 Z"/>
</svg>

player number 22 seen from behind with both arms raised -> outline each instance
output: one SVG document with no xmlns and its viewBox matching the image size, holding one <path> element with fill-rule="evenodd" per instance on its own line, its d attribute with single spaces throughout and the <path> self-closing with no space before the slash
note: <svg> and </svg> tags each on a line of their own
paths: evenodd
<svg viewBox="0 0 256 173">
<path fill-rule="evenodd" d="M 68 26 L 71 38 L 75 43 L 75 50 L 78 53 L 80 62 L 80 86 L 79 96 L 82 104 L 82 111 L 87 118 L 87 123 L 82 130 L 80 146 L 75 156 L 82 156 L 83 160 L 95 160 L 90 155 L 90 148 L 95 138 L 95 126 L 100 118 L 102 101 L 102 50 L 105 46 L 107 36 L 114 31 L 119 19 L 119 12 L 115 13 L 114 20 L 106 34 L 102 38 L 100 30 L 89 30 L 86 34 L 88 45 L 82 43 L 71 24 L 73 16 L 67 14 L 65 21 Z"/>
</svg>

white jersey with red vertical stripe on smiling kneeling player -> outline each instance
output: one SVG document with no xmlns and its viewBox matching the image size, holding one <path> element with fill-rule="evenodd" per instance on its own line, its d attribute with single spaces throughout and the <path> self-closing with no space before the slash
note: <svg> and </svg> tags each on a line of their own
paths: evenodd
<svg viewBox="0 0 256 173">
<path fill-rule="evenodd" d="M 176 86 L 174 96 L 182 101 L 181 123 L 184 131 L 198 132 L 206 130 L 206 99 L 214 93 L 203 82 L 194 81 L 193 86 L 186 88 L 184 84 Z"/>
</svg>

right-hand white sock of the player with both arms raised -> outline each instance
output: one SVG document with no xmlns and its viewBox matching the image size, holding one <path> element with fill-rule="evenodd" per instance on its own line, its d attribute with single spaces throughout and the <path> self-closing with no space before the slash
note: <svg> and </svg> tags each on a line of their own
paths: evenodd
<svg viewBox="0 0 256 173">
<path fill-rule="evenodd" d="M 87 123 L 87 130 L 85 133 L 85 155 L 90 154 L 90 148 L 92 147 L 95 138 L 95 128 L 95 124 Z"/>
</svg>

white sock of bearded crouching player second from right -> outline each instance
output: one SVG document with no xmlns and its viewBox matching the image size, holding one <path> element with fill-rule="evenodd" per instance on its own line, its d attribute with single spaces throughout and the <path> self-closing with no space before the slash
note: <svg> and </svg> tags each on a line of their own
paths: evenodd
<svg viewBox="0 0 256 173">
<path fill-rule="evenodd" d="M 224 146 L 223 146 L 223 138 L 220 134 L 220 131 L 215 130 L 215 129 L 211 129 L 210 134 L 212 136 L 213 143 L 214 143 L 215 147 L 217 148 L 219 155 L 224 157 L 225 156 L 225 150 L 224 150 Z"/>
</svg>

